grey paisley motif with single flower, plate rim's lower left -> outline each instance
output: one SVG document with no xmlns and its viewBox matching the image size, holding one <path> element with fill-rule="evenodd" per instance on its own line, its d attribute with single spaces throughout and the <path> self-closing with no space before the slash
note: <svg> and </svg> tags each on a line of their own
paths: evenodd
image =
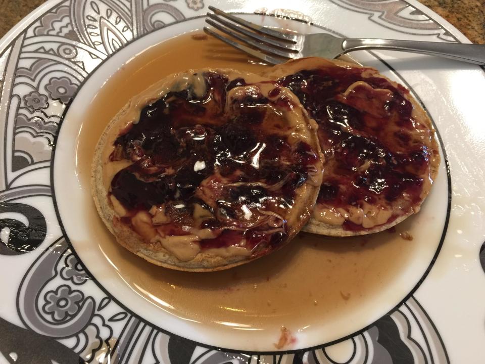
<svg viewBox="0 0 485 364">
<path fill-rule="evenodd" d="M 110 353 L 113 330 L 119 333 L 131 317 L 125 314 L 122 320 L 106 323 L 106 314 L 120 308 L 110 301 L 96 305 L 106 296 L 90 281 L 64 239 L 57 240 L 33 263 L 18 297 L 18 312 L 27 328 L 58 338 L 87 361 Z"/>
</svg>

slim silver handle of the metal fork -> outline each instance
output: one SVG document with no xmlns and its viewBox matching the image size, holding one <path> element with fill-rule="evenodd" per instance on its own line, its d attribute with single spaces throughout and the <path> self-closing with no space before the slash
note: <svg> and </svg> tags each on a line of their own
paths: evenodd
<svg viewBox="0 0 485 364">
<path fill-rule="evenodd" d="M 394 39 L 345 39 L 344 53 L 366 49 L 384 49 L 422 53 L 485 65 L 485 44 L 441 43 Z"/>
</svg>

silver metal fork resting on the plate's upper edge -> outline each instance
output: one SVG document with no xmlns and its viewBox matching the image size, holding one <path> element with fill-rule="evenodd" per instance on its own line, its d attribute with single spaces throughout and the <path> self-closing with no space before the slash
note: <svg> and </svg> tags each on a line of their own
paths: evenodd
<svg viewBox="0 0 485 364">
<path fill-rule="evenodd" d="M 309 56 L 331 59 L 347 52 L 368 49 L 422 53 L 478 65 L 485 64 L 485 44 L 394 39 L 353 39 L 340 38 L 326 33 L 284 33 L 273 28 L 251 23 L 212 6 L 209 9 L 213 13 L 207 13 L 210 19 L 206 19 L 206 22 L 239 42 L 204 27 L 206 33 L 232 45 L 238 50 L 271 64 L 280 64 L 288 59 Z"/>
</svg>

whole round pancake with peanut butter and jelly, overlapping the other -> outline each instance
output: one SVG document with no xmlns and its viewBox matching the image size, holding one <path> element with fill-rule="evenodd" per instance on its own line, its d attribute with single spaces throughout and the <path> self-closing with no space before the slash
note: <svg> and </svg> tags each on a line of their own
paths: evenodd
<svg viewBox="0 0 485 364">
<path fill-rule="evenodd" d="M 211 271 L 264 256 L 309 220 L 317 125 L 267 78 L 178 73 L 133 98 L 95 150 L 92 195 L 117 241 L 164 267 Z"/>
</svg>

